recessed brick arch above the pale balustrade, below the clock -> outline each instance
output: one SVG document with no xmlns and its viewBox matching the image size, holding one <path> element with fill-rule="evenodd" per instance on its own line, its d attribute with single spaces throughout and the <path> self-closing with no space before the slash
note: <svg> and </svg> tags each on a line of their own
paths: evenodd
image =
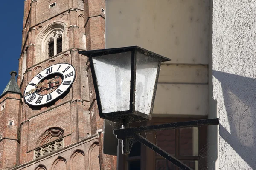
<svg viewBox="0 0 256 170">
<path fill-rule="evenodd" d="M 64 130 L 59 127 L 49 128 L 39 137 L 38 141 L 36 142 L 36 147 L 43 146 L 44 144 L 62 137 L 64 137 Z"/>
</svg>

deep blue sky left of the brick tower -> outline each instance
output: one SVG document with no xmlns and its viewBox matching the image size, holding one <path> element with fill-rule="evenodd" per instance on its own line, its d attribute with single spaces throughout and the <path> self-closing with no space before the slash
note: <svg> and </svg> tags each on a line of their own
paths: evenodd
<svg viewBox="0 0 256 170">
<path fill-rule="evenodd" d="M 11 6 L 10 6 L 11 5 Z M 10 8 L 11 7 L 11 8 Z M 2 1 L 0 10 L 0 94 L 11 78 L 12 70 L 18 72 L 21 53 L 24 0 Z"/>
</svg>

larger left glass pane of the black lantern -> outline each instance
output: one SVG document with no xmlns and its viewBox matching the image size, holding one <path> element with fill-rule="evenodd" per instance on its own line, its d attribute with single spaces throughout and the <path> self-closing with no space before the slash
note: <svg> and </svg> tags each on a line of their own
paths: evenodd
<svg viewBox="0 0 256 170">
<path fill-rule="evenodd" d="M 130 109 L 131 51 L 93 57 L 102 113 Z"/>
</svg>

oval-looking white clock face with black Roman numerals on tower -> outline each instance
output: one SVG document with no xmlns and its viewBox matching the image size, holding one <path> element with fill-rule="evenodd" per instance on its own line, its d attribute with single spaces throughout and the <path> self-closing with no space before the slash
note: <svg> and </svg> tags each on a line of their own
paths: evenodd
<svg viewBox="0 0 256 170">
<path fill-rule="evenodd" d="M 26 86 L 25 102 L 45 105 L 64 94 L 76 77 L 75 68 L 67 63 L 51 65 L 38 73 Z"/>
</svg>

